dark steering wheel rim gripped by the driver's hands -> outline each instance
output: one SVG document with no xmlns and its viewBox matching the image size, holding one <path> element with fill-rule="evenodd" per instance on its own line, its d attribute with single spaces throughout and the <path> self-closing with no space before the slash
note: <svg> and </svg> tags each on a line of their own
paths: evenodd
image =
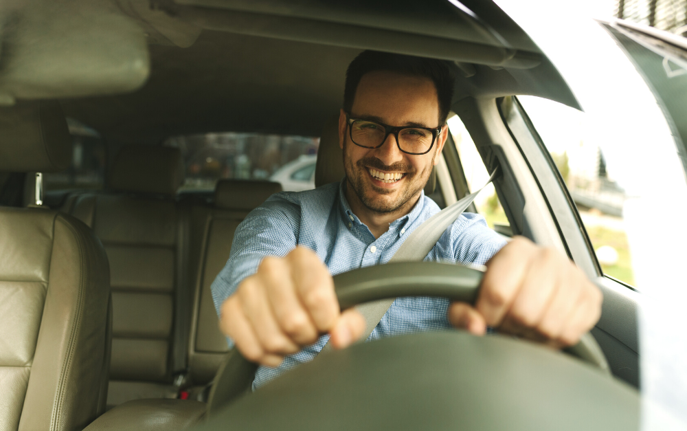
<svg viewBox="0 0 687 431">
<path fill-rule="evenodd" d="M 463 265 L 398 262 L 344 272 L 334 276 L 334 285 L 341 309 L 398 296 L 434 296 L 474 304 L 483 275 L 479 269 Z M 605 356 L 589 333 L 565 352 L 610 374 Z M 248 393 L 257 368 L 257 364 L 246 360 L 235 347 L 229 351 L 210 391 L 207 415 Z"/>
</svg>

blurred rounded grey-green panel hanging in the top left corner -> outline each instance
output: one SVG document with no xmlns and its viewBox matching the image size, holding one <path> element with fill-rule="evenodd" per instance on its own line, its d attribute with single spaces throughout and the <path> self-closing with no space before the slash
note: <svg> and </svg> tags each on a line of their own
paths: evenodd
<svg viewBox="0 0 687 431">
<path fill-rule="evenodd" d="M 0 2 L 0 104 L 133 91 L 150 71 L 144 31 L 107 0 Z"/>
</svg>

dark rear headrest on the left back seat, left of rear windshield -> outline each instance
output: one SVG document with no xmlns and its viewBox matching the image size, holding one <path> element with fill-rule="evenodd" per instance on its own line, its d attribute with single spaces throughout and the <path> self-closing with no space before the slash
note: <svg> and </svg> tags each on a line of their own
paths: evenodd
<svg viewBox="0 0 687 431">
<path fill-rule="evenodd" d="M 112 166 L 109 186 L 122 192 L 177 194 L 184 178 L 179 148 L 151 145 L 122 147 Z"/>
</svg>

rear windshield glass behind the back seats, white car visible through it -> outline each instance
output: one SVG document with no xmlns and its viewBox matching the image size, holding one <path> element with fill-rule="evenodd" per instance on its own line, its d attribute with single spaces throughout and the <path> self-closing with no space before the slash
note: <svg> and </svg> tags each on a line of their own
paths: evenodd
<svg viewBox="0 0 687 431">
<path fill-rule="evenodd" d="M 180 190 L 211 190 L 218 179 L 224 178 L 277 181 L 282 183 L 284 190 L 293 190 L 287 180 L 297 170 L 306 167 L 296 163 L 300 157 L 315 159 L 319 138 L 262 133 L 205 133 L 170 137 L 164 145 L 181 150 L 186 179 Z M 313 182 L 308 188 L 314 187 Z"/>
</svg>

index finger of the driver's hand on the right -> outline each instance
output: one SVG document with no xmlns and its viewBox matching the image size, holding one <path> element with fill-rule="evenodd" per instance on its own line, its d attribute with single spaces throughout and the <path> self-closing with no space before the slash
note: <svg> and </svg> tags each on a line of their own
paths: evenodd
<svg viewBox="0 0 687 431">
<path fill-rule="evenodd" d="M 484 316 L 489 326 L 497 327 L 502 323 L 536 251 L 534 243 L 522 236 L 515 236 L 486 263 L 487 271 L 482 278 L 475 309 Z"/>
</svg>

